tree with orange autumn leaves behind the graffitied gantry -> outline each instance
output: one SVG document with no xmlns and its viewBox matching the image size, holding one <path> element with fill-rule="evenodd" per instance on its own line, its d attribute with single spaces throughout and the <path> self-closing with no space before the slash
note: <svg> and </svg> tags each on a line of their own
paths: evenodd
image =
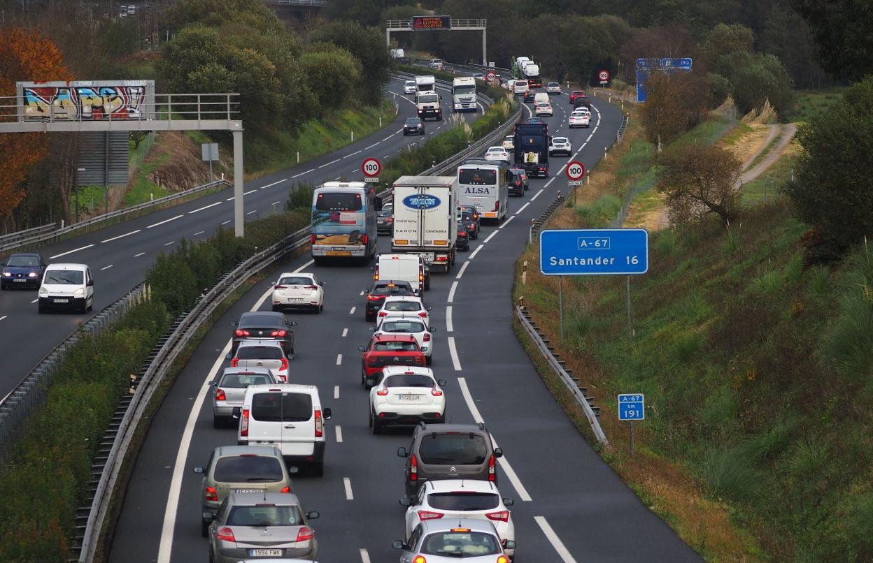
<svg viewBox="0 0 873 563">
<path fill-rule="evenodd" d="M 15 96 L 19 80 L 72 80 L 62 61 L 58 46 L 38 33 L 0 31 L 0 96 Z M 9 112 L 9 108 L 3 110 Z M 0 222 L 8 220 L 24 199 L 22 183 L 47 151 L 48 138 L 43 133 L 0 134 Z"/>
</svg>

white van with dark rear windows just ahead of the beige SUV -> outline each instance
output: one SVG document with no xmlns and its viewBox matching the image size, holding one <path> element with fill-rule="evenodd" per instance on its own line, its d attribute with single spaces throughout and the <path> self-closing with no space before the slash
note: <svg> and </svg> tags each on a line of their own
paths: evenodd
<svg viewBox="0 0 873 563">
<path fill-rule="evenodd" d="M 325 420 L 314 385 L 250 385 L 239 417 L 237 444 L 275 445 L 291 466 L 308 465 L 315 476 L 325 470 Z"/>
</svg>

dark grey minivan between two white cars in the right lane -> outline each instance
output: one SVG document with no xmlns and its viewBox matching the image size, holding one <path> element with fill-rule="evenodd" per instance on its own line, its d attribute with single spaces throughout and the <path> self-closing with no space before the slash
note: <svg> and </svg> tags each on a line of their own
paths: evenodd
<svg viewBox="0 0 873 563">
<path fill-rule="evenodd" d="M 406 458 L 403 480 L 412 497 L 419 485 L 435 479 L 478 479 L 497 485 L 497 458 L 485 424 L 425 424 L 416 426 L 409 450 L 398 448 Z"/>
</svg>

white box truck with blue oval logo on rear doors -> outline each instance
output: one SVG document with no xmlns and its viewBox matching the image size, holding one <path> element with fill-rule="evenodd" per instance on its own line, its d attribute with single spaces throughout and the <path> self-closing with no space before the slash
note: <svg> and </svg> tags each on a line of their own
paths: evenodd
<svg viewBox="0 0 873 563">
<path fill-rule="evenodd" d="M 450 271 L 457 241 L 457 176 L 401 176 L 394 182 L 391 253 L 421 254 Z"/>
</svg>

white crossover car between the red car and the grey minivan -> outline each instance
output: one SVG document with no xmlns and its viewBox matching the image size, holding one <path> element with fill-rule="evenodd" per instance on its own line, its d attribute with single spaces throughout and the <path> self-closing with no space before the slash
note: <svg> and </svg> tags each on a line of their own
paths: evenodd
<svg viewBox="0 0 873 563">
<path fill-rule="evenodd" d="M 388 424 L 445 422 L 445 394 L 433 370 L 391 365 L 370 389 L 370 429 L 382 434 Z"/>
</svg>

